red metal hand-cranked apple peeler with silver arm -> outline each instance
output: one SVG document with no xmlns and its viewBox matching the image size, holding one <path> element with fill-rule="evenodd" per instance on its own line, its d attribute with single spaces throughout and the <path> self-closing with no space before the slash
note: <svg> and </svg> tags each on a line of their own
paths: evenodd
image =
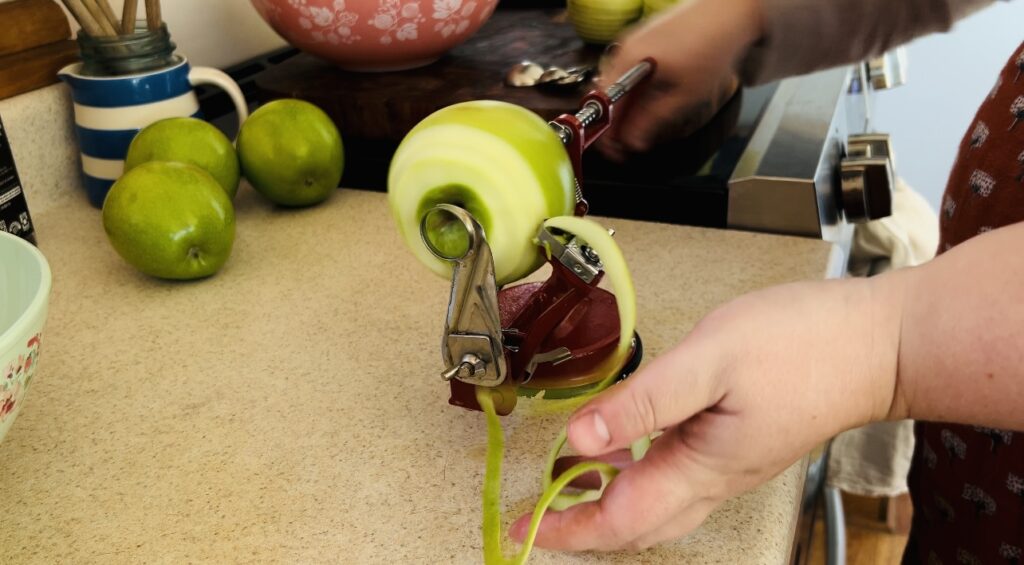
<svg viewBox="0 0 1024 565">
<path fill-rule="evenodd" d="M 645 59 L 606 90 L 584 96 L 574 115 L 550 122 L 575 172 L 575 215 L 588 209 L 580 186 L 583 151 L 608 130 L 628 101 L 624 97 L 653 71 L 654 61 Z M 465 227 L 469 246 L 463 255 L 445 255 L 425 236 L 426 226 L 438 221 Z M 618 312 L 614 296 L 597 287 L 604 271 L 593 250 L 571 234 L 541 227 L 538 242 L 551 251 L 549 277 L 499 290 L 490 248 L 469 212 L 439 205 L 424 216 L 420 231 L 430 252 L 454 265 L 441 341 L 441 377 L 451 384 L 451 404 L 480 409 L 475 387 L 490 387 L 498 412 L 508 415 L 518 396 L 542 391 L 545 398 L 574 396 L 607 377 L 596 372 L 618 343 Z M 635 336 L 620 379 L 636 370 L 642 354 Z"/>
</svg>

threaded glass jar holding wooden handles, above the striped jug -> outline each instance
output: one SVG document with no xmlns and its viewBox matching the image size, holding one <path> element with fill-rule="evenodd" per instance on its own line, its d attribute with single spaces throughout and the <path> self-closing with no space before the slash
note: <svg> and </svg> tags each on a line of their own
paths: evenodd
<svg viewBox="0 0 1024 565">
<path fill-rule="evenodd" d="M 82 54 L 80 73 L 90 77 L 135 75 L 181 62 L 174 54 L 166 24 L 151 31 L 139 20 L 135 33 L 112 37 L 93 37 L 80 31 L 77 39 Z"/>
</svg>

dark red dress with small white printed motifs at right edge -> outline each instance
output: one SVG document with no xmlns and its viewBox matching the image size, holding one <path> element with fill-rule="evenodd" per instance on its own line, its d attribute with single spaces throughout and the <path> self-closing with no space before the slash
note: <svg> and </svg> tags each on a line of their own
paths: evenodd
<svg viewBox="0 0 1024 565">
<path fill-rule="evenodd" d="M 939 253 L 1020 221 L 1024 43 L 961 143 L 939 213 Z M 903 563 L 1024 564 L 1024 431 L 919 422 L 915 437 Z"/>
</svg>

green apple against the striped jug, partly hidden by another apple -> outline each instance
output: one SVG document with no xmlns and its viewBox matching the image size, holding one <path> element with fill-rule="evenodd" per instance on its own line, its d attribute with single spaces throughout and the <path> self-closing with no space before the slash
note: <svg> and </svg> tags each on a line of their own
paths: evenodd
<svg viewBox="0 0 1024 565">
<path fill-rule="evenodd" d="M 151 161 L 176 161 L 210 173 L 234 198 L 239 191 L 239 156 L 231 141 L 211 124 L 196 118 L 168 118 L 146 126 L 132 139 L 125 171 Z"/>
</svg>

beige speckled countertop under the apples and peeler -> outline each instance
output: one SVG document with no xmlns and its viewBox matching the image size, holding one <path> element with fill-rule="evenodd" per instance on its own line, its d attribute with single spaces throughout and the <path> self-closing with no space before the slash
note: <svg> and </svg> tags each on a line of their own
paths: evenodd
<svg viewBox="0 0 1024 565">
<path fill-rule="evenodd" d="M 244 187 L 213 278 L 137 274 L 84 197 L 41 208 L 54 276 L 39 373 L 0 445 L 0 561 L 476 563 L 484 422 L 436 377 L 447 282 L 378 193 L 275 210 Z M 827 244 L 609 221 L 648 358 L 740 293 L 824 276 Z M 506 518 L 539 494 L 558 419 L 505 419 Z M 535 563 L 781 563 L 803 464 L 640 555 Z"/>
</svg>

